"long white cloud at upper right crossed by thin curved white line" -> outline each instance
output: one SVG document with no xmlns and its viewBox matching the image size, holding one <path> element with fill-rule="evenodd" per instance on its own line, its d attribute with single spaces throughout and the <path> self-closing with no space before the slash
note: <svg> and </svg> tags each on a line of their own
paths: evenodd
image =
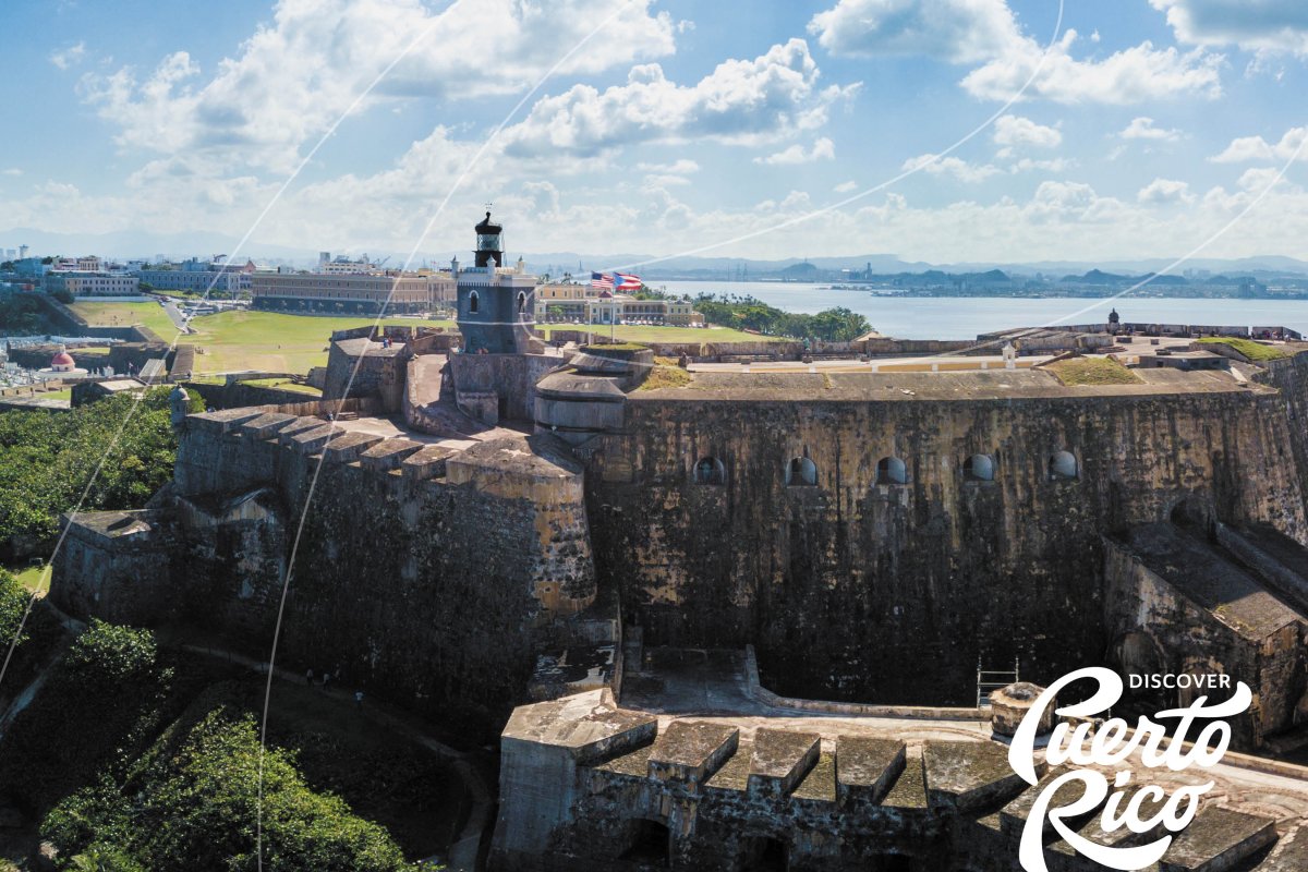
<svg viewBox="0 0 1308 872">
<path fill-rule="evenodd" d="M 1146 41 L 1103 59 L 1078 60 L 1071 56 L 1076 41 L 1071 29 L 1040 67 L 1045 46 L 1022 31 L 1005 0 L 838 0 L 814 16 L 808 29 L 832 54 L 914 54 L 981 64 L 963 78 L 963 86 L 985 99 L 1008 99 L 1032 76 L 1029 97 L 1061 103 L 1125 105 L 1182 94 L 1214 98 L 1222 90 L 1220 55 L 1155 48 Z"/>
</svg>

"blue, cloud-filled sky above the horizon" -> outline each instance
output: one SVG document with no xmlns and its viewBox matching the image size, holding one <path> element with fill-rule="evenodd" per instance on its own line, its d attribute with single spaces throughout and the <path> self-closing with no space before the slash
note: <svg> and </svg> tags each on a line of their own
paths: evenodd
<svg viewBox="0 0 1308 872">
<path fill-rule="evenodd" d="M 510 255 L 1308 259 L 1301 0 L 0 14 L 0 247 L 211 233 L 398 263 L 471 248 L 492 203 Z"/>
</svg>

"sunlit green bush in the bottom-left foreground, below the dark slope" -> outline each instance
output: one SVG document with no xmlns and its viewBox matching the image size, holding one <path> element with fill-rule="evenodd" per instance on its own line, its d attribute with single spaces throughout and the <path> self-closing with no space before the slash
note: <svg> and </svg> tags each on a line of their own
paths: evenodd
<svg viewBox="0 0 1308 872">
<path fill-rule="evenodd" d="M 339 797 L 310 790 L 293 754 L 262 752 L 252 716 L 216 709 L 177 732 L 165 735 L 122 787 L 102 779 L 60 803 L 42 835 L 82 862 L 112 858 L 102 867 L 110 869 L 254 869 L 262 771 L 268 868 L 415 868 L 385 829 L 356 817 Z"/>
</svg>

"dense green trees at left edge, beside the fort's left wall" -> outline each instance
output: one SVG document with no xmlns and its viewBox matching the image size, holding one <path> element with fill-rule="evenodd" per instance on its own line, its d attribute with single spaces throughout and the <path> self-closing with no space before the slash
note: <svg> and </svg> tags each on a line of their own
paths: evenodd
<svg viewBox="0 0 1308 872">
<path fill-rule="evenodd" d="M 114 396 L 71 412 L 0 414 L 0 552 L 47 544 L 97 468 L 84 510 L 144 506 L 177 458 L 167 395 L 166 387 L 148 391 L 135 413 L 135 397 Z M 192 409 L 203 411 L 203 400 Z M 14 537 L 26 546 L 16 548 Z"/>
</svg>

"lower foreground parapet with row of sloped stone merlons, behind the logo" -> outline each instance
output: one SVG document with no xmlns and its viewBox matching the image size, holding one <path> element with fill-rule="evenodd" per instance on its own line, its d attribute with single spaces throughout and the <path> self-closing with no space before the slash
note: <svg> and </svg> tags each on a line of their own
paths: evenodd
<svg viewBox="0 0 1308 872">
<path fill-rule="evenodd" d="M 1067 771 L 1037 753 L 1039 782 L 1028 786 L 1007 745 L 976 727 L 783 710 L 655 718 L 608 690 L 517 709 L 501 752 L 494 872 L 1020 872 L 1018 846 L 1037 800 Z M 1300 868 L 1308 829 L 1291 795 L 1308 799 L 1308 787 L 1282 779 L 1278 813 L 1252 761 L 1228 763 L 1159 868 Z M 1134 757 L 1122 765 L 1141 769 Z M 1304 770 L 1284 774 L 1292 771 Z M 1150 778 L 1168 794 L 1189 783 L 1165 770 Z M 1050 808 L 1083 792 L 1079 780 L 1063 784 Z M 1152 831 L 1105 830 L 1103 809 L 1062 824 L 1109 846 L 1165 834 L 1156 821 Z M 1103 869 L 1061 841 L 1048 817 L 1042 842 L 1050 869 Z"/>
</svg>

